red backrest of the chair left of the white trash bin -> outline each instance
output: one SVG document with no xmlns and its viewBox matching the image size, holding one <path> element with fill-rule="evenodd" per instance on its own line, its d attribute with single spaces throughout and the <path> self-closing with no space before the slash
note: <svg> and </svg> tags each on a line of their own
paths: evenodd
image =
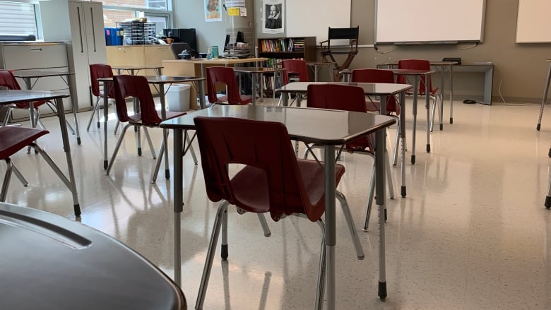
<svg viewBox="0 0 551 310">
<path fill-rule="evenodd" d="M 155 109 L 155 101 L 145 76 L 114 76 L 113 88 L 119 121 L 130 121 L 126 109 L 126 97 L 134 97 L 140 105 L 141 122 L 146 126 L 158 126 L 161 119 Z"/>
</svg>

